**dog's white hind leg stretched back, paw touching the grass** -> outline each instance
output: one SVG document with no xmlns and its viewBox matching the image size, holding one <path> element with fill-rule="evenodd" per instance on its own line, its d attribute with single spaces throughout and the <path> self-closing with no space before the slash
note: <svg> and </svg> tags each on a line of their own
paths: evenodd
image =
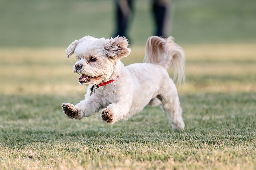
<svg viewBox="0 0 256 170">
<path fill-rule="evenodd" d="M 172 79 L 164 83 L 161 94 L 156 97 L 162 102 L 163 109 L 172 124 L 172 129 L 182 131 L 185 127 L 181 113 L 182 109 L 179 103 L 179 97 L 176 86 Z"/>
</svg>

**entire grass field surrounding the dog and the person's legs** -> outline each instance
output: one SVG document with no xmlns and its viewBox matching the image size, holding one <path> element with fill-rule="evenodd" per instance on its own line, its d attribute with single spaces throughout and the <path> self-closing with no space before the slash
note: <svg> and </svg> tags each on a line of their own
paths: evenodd
<svg viewBox="0 0 256 170">
<path fill-rule="evenodd" d="M 180 133 L 159 107 L 112 126 L 62 113 L 86 92 L 65 49 L 111 37 L 113 1 L 1 0 L 0 170 L 256 169 L 256 1 L 172 2 L 168 33 L 187 54 Z M 135 3 L 125 65 L 153 33 L 150 0 Z"/>
</svg>

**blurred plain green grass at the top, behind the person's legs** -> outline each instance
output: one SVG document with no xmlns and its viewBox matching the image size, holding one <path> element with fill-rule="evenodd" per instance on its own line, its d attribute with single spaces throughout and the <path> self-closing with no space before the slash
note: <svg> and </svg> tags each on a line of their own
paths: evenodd
<svg viewBox="0 0 256 170">
<path fill-rule="evenodd" d="M 154 33 L 151 0 L 135 2 L 129 37 L 144 46 Z M 255 42 L 256 1 L 173 0 L 168 36 L 179 43 Z M 114 2 L 63 0 L 1 0 L 0 46 L 68 46 L 84 35 L 114 34 Z"/>
</svg>

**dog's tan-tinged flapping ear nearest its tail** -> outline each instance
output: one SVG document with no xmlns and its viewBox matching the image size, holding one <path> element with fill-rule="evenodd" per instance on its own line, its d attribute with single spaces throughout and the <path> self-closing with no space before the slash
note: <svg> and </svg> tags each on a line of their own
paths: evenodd
<svg viewBox="0 0 256 170">
<path fill-rule="evenodd" d="M 104 48 L 105 53 L 112 59 L 121 59 L 127 57 L 131 53 L 131 49 L 128 48 L 129 42 L 125 37 L 115 37 L 107 39 Z"/>
</svg>

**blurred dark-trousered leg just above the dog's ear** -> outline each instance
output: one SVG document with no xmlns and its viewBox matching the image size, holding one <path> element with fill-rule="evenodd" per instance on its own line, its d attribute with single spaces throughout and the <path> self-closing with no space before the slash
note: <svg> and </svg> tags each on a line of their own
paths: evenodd
<svg viewBox="0 0 256 170">
<path fill-rule="evenodd" d="M 115 36 L 126 36 L 127 28 L 133 12 L 133 0 L 116 0 L 116 33 Z"/>
</svg>

